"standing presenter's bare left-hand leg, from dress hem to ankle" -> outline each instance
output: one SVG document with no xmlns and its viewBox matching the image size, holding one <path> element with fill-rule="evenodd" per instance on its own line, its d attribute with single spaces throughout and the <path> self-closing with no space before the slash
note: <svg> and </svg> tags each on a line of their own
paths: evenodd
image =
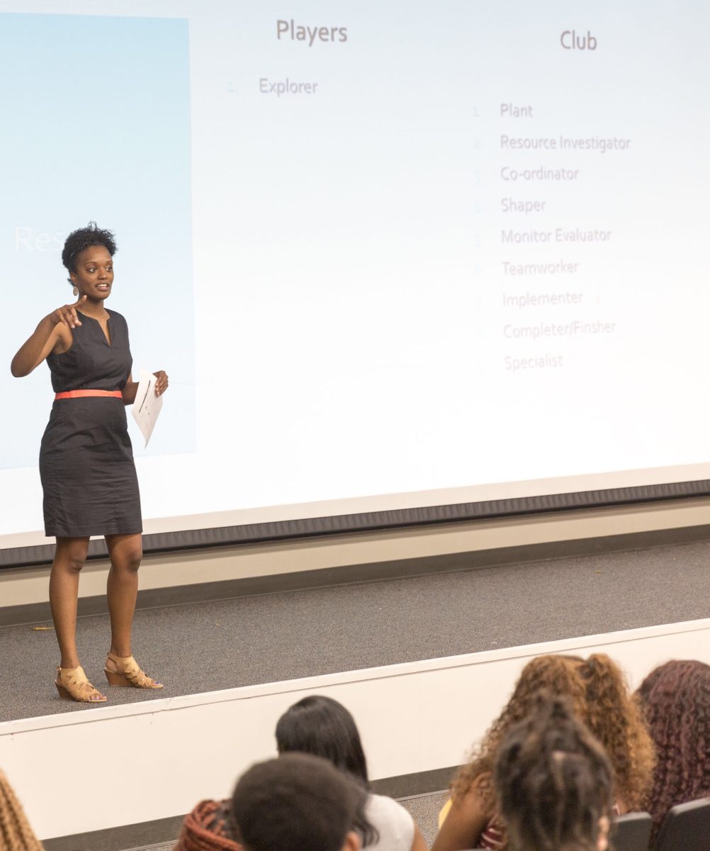
<svg viewBox="0 0 710 851">
<path fill-rule="evenodd" d="M 57 538 L 49 574 L 49 606 L 60 644 L 62 668 L 77 668 L 77 597 L 79 574 L 88 550 L 88 538 Z"/>
</svg>

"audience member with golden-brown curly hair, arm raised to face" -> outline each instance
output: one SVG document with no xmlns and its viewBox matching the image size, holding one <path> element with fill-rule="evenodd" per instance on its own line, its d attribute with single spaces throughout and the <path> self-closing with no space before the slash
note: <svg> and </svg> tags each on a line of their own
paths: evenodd
<svg viewBox="0 0 710 851">
<path fill-rule="evenodd" d="M 650 788 L 653 745 L 622 672 L 604 654 L 586 661 L 577 656 L 539 656 L 525 665 L 508 705 L 453 781 L 451 808 L 432 851 L 505 847 L 491 774 L 503 737 L 529 717 L 541 690 L 570 700 L 572 711 L 605 747 L 614 777 L 615 811 L 641 807 Z"/>
</svg>

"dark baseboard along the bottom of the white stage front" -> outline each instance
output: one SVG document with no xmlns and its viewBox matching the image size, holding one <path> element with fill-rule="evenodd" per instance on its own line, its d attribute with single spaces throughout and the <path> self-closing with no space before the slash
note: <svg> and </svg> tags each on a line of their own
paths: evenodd
<svg viewBox="0 0 710 851">
<path fill-rule="evenodd" d="M 448 788 L 457 768 L 458 766 L 435 768 L 417 774 L 373 780 L 372 791 L 377 795 L 396 798 L 438 792 Z M 74 837 L 45 839 L 43 846 L 45 851 L 126 851 L 129 848 L 145 848 L 146 845 L 168 844 L 179 837 L 184 818 L 185 816 L 175 815 L 169 819 L 111 827 L 105 831 L 80 833 Z"/>
</svg>

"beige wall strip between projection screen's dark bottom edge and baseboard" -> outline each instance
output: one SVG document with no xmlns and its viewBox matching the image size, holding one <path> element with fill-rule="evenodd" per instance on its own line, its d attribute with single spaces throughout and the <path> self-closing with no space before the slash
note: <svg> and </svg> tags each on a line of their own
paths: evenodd
<svg viewBox="0 0 710 851">
<path fill-rule="evenodd" d="M 508 557 L 508 561 L 522 561 L 525 558 L 550 557 L 536 555 L 537 545 L 576 542 L 580 547 L 576 551 L 583 551 L 584 542 L 588 540 L 590 549 L 599 544 L 599 549 L 603 550 L 605 541 L 602 539 L 616 536 L 628 536 L 628 544 L 625 545 L 624 540 L 616 541 L 616 549 L 635 549 L 650 543 L 637 543 L 634 535 L 662 533 L 666 530 L 672 539 L 668 542 L 697 540 L 699 537 L 707 537 L 707 531 L 703 528 L 707 523 L 710 523 L 710 499 L 699 498 L 288 540 L 278 544 L 171 552 L 144 558 L 140 569 L 140 587 L 142 591 L 174 589 L 199 583 L 287 576 L 304 571 L 378 563 L 382 563 L 382 576 L 386 576 L 386 563 L 399 560 L 490 551 L 489 562 L 499 563 L 494 557 L 496 551 L 529 547 L 530 552 L 526 556 L 524 551 L 520 551 L 517 557 Z M 104 595 L 107 573 L 108 563 L 88 563 L 82 571 L 80 597 Z M 0 571 L 0 601 L 3 607 L 47 603 L 48 574 L 48 566 Z M 289 586 L 293 586 L 293 581 L 295 578 Z"/>
</svg>

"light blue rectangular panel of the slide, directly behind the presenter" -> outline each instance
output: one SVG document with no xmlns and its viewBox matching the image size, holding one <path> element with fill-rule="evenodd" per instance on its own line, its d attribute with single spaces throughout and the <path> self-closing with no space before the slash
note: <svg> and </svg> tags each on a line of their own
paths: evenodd
<svg viewBox="0 0 710 851">
<path fill-rule="evenodd" d="M 0 14 L 0 77 L 0 268 L 13 323 L 0 393 L 14 412 L 3 416 L 0 468 L 37 465 L 48 368 L 18 381 L 8 358 L 43 316 L 74 300 L 61 248 L 88 220 L 116 231 L 108 306 L 127 317 L 136 374 L 169 362 L 182 381 L 179 414 L 151 451 L 193 452 L 187 21 Z"/>
</svg>

